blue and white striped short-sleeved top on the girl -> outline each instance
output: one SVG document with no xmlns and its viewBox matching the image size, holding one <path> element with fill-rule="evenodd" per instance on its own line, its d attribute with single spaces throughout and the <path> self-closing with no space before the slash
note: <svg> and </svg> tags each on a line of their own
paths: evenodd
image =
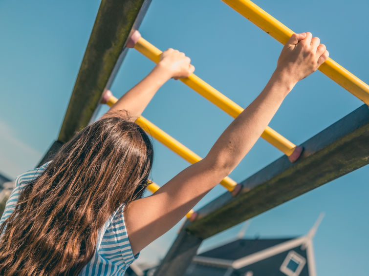
<svg viewBox="0 0 369 276">
<path fill-rule="evenodd" d="M 48 162 L 40 168 L 27 171 L 15 180 L 15 189 L 11 193 L 1 216 L 0 224 L 13 213 L 18 202 L 20 190 L 46 168 Z M 80 276 L 94 275 L 124 275 L 128 266 L 139 254 L 133 256 L 123 217 L 124 204 L 109 217 L 99 232 L 96 252 L 92 259 L 79 274 Z"/>
</svg>

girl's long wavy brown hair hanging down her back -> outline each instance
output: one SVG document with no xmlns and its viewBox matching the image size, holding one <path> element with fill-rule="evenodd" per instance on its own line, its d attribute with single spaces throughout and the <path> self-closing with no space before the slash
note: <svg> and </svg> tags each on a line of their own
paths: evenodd
<svg viewBox="0 0 369 276">
<path fill-rule="evenodd" d="M 150 138 L 121 116 L 84 128 L 26 184 L 1 225 L 0 275 L 77 275 L 109 216 L 142 197 L 152 159 Z"/>
</svg>

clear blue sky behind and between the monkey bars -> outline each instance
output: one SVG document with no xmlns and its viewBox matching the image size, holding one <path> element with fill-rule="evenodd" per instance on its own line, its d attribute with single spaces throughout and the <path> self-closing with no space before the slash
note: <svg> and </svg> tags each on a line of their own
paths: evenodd
<svg viewBox="0 0 369 276">
<path fill-rule="evenodd" d="M 321 38 L 330 57 L 369 82 L 369 2 L 366 0 L 256 0 L 295 32 Z M 99 0 L 0 2 L 0 172 L 16 177 L 33 168 L 58 137 L 87 46 Z M 153 0 L 139 29 L 165 50 L 191 57 L 195 74 L 239 105 L 247 106 L 273 72 L 282 44 L 220 0 Z M 130 50 L 112 85 L 121 96 L 153 68 Z M 296 144 L 320 132 L 362 102 L 317 72 L 296 85 L 270 126 Z M 231 122 L 179 81 L 157 93 L 144 116 L 205 156 Z M 152 178 L 164 184 L 186 161 L 154 142 Z M 259 140 L 232 172 L 242 181 L 282 154 Z M 321 212 L 314 238 L 317 271 L 325 276 L 366 276 L 369 257 L 369 166 L 334 180 L 252 219 L 246 237 L 304 235 Z M 224 193 L 216 187 L 195 209 Z M 234 238 L 241 225 L 205 241 L 201 250 Z M 141 261 L 162 257 L 175 230 L 142 252 Z"/>
</svg>

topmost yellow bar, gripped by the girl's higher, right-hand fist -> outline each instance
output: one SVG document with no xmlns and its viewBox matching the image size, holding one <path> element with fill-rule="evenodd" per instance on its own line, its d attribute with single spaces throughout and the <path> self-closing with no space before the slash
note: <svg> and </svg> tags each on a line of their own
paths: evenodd
<svg viewBox="0 0 369 276">
<path fill-rule="evenodd" d="M 287 43 L 294 33 L 292 30 L 262 10 L 250 0 L 222 0 L 224 3 L 253 22 L 260 29 L 277 39 L 282 44 Z M 328 78 L 334 80 L 355 97 L 369 105 L 369 85 L 347 71 L 333 59 L 328 58 L 319 70 Z"/>
</svg>

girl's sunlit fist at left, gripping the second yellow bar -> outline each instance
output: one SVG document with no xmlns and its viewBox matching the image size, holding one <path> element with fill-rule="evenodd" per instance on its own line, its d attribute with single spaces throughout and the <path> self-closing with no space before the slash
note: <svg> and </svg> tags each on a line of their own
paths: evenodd
<svg viewBox="0 0 369 276">
<path fill-rule="evenodd" d="M 184 53 L 172 48 L 161 54 L 160 61 L 156 66 L 169 74 L 169 78 L 174 79 L 187 78 L 195 71 L 191 59 L 186 57 Z"/>
</svg>

